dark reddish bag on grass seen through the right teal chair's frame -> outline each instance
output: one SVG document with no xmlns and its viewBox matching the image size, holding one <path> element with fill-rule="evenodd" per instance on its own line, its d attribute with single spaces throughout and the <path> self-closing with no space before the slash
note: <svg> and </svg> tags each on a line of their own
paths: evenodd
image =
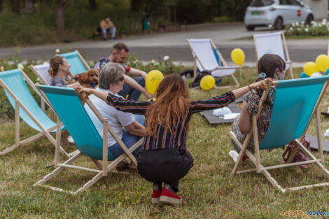
<svg viewBox="0 0 329 219">
<path fill-rule="evenodd" d="M 302 143 L 302 145 L 307 148 L 307 150 L 311 151 L 311 142 L 309 141 L 309 138 L 307 137 L 303 137 L 302 141 L 300 142 Z M 286 150 L 283 152 L 283 162 L 286 164 L 286 162 L 288 161 L 291 153 L 293 152 L 293 148 L 295 148 L 295 143 L 293 141 L 291 141 L 288 144 L 288 147 L 286 148 Z M 288 153 L 288 155 L 287 155 Z M 286 156 L 287 155 L 287 156 Z M 302 162 L 302 161 L 307 161 L 310 160 L 309 157 L 307 157 L 307 155 L 305 155 L 302 150 L 298 149 L 296 152 L 295 157 L 293 157 L 292 162 Z M 307 169 L 308 167 L 310 167 L 311 164 L 302 164 L 302 165 L 298 165 L 298 167 L 302 168 L 302 169 Z"/>
</svg>

